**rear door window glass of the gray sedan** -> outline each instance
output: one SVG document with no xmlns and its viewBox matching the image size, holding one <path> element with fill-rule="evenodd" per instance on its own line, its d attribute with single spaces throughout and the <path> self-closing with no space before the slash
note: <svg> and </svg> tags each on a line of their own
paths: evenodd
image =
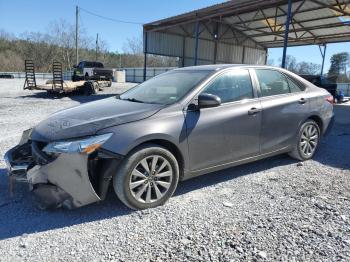
<svg viewBox="0 0 350 262">
<path fill-rule="evenodd" d="M 270 69 L 255 69 L 261 96 L 274 96 L 290 93 L 287 78 L 280 72 Z"/>
</svg>

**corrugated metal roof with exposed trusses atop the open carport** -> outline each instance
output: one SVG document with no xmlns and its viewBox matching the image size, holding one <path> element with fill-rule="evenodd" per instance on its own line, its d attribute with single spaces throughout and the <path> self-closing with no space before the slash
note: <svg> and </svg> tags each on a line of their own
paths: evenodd
<svg viewBox="0 0 350 262">
<path fill-rule="evenodd" d="M 287 0 L 235 0 L 144 25 L 144 31 L 194 37 L 264 49 L 283 46 Z M 289 45 L 350 41 L 350 0 L 295 0 Z M 219 24 L 218 38 L 214 38 Z M 227 29 L 229 28 L 229 29 Z M 176 29 L 176 33 L 174 33 Z M 224 33 L 225 31 L 225 33 Z M 212 44 L 206 44 L 206 49 Z"/>
</svg>

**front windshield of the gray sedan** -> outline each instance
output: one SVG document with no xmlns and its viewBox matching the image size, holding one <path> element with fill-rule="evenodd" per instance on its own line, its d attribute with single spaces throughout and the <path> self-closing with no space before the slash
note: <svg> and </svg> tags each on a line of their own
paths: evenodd
<svg viewBox="0 0 350 262">
<path fill-rule="evenodd" d="M 143 82 L 119 98 L 139 103 L 172 104 L 183 98 L 212 72 L 209 70 L 173 70 Z"/>
</svg>

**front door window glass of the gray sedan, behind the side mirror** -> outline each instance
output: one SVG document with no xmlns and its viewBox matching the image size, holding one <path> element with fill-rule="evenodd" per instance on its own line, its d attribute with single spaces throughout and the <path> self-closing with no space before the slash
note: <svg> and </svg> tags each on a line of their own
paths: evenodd
<svg viewBox="0 0 350 262">
<path fill-rule="evenodd" d="M 202 93 L 220 97 L 221 103 L 253 98 L 253 86 L 249 71 L 237 69 L 218 76 Z"/>
</svg>

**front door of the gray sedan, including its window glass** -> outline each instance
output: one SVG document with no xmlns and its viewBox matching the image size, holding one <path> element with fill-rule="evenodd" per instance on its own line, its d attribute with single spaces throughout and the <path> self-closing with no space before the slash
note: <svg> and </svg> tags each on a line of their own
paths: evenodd
<svg viewBox="0 0 350 262">
<path fill-rule="evenodd" d="M 191 170 L 259 154 L 261 106 L 249 71 L 226 71 L 201 92 L 217 95 L 221 105 L 185 113 Z"/>
</svg>

